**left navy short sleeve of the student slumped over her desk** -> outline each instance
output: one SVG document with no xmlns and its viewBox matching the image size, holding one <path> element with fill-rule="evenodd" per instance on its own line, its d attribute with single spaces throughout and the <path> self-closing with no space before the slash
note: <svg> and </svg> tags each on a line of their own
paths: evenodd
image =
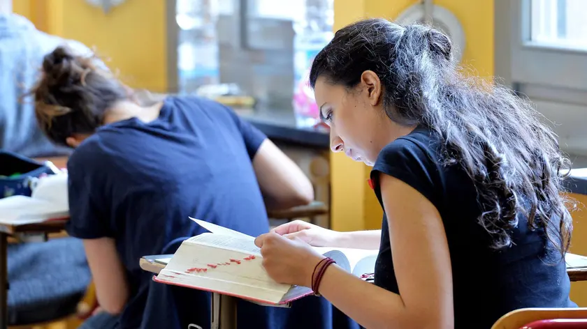
<svg viewBox="0 0 587 329">
<path fill-rule="evenodd" d="M 99 167 L 103 158 L 94 141 L 86 142 L 73 152 L 67 163 L 70 220 L 66 231 L 82 239 L 111 237 L 104 198 L 106 180 L 102 175 L 104 170 Z"/>
</svg>

